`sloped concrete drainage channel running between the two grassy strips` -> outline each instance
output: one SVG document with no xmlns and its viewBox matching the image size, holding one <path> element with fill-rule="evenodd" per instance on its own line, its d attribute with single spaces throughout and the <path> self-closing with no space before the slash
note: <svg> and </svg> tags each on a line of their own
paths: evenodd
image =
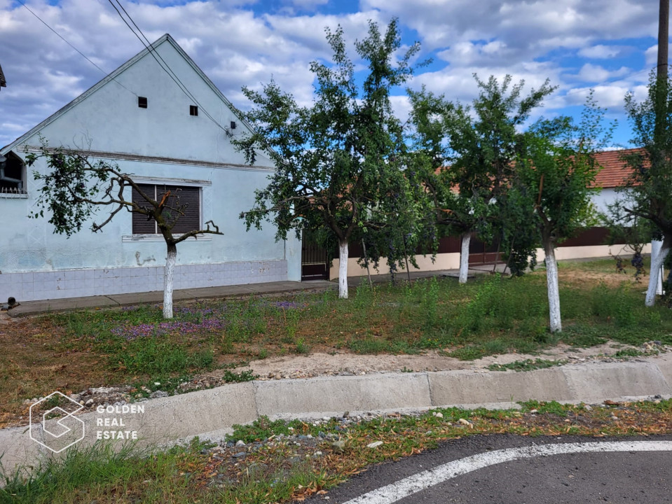
<svg viewBox="0 0 672 504">
<path fill-rule="evenodd" d="M 4 470 L 36 465 L 68 444 L 86 446 L 105 433 L 136 433 L 142 444 L 167 444 L 194 435 L 221 437 L 235 423 L 340 416 L 345 411 L 408 412 L 432 407 L 516 407 L 515 401 L 596 403 L 672 396 L 672 356 L 636 362 L 587 363 L 528 372 L 439 371 L 249 381 L 148 400 L 126 407 L 60 416 L 32 428 L 0 430 Z M 142 407 L 141 407 L 142 406 Z M 46 447 L 45 430 L 59 440 Z M 83 436 L 83 439 L 77 438 Z M 110 437 L 107 437 L 110 439 Z M 111 437 L 121 443 L 119 437 Z"/>
</svg>

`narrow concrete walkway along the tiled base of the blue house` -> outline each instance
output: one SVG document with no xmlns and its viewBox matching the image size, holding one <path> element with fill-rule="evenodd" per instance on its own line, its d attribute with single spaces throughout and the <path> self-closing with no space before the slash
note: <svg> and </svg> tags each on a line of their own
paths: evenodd
<svg viewBox="0 0 672 504">
<path fill-rule="evenodd" d="M 501 271 L 502 266 L 498 266 Z M 492 266 L 479 266 L 472 269 L 469 274 L 486 273 L 493 270 Z M 405 281 L 406 272 L 397 274 L 399 281 Z M 432 272 L 411 271 L 411 279 L 428 278 L 430 276 L 458 276 L 457 269 L 441 269 Z M 390 274 L 371 275 L 371 281 L 374 283 L 384 283 L 391 280 Z M 368 281 L 366 276 L 351 276 L 348 278 L 350 287 L 357 287 Z M 241 295 L 259 295 L 273 293 L 294 293 L 301 290 L 324 290 L 327 288 L 338 288 L 338 284 L 327 280 L 309 280 L 303 282 L 279 281 L 266 283 L 247 283 L 245 285 L 221 286 L 221 287 L 203 287 L 174 290 L 174 301 L 196 301 L 204 299 L 216 299 L 218 297 L 238 297 Z M 19 300 L 20 301 L 20 300 Z M 27 301 L 22 302 L 18 307 L 9 310 L 7 313 L 13 317 L 39 315 L 54 311 L 67 311 L 71 309 L 82 308 L 114 308 L 122 306 L 132 306 L 134 304 L 161 303 L 163 302 L 163 291 L 155 290 L 146 293 L 132 294 L 109 294 L 90 297 L 69 297 L 57 300 Z"/>
</svg>

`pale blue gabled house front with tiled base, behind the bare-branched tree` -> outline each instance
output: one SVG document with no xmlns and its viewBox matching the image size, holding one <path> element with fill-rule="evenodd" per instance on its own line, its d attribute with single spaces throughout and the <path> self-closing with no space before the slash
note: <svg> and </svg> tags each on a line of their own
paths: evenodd
<svg viewBox="0 0 672 504">
<path fill-rule="evenodd" d="M 181 219 L 189 230 L 214 221 L 224 236 L 205 235 L 178 245 L 174 288 L 299 280 L 301 246 L 275 230 L 245 230 L 241 211 L 266 186 L 271 161 L 254 166 L 235 151 L 231 137 L 249 131 L 233 106 L 170 35 L 153 43 L 193 94 L 189 99 L 149 50 L 119 67 L 81 96 L 0 149 L 0 300 L 47 300 L 163 290 L 166 247 L 153 221 L 120 212 L 102 232 L 85 225 L 69 239 L 45 218 L 29 218 L 38 186 L 25 166 L 39 137 L 50 146 L 83 148 L 92 158 L 118 164 L 146 190 L 180 188 L 189 203 Z M 207 117 L 206 112 L 217 120 Z M 131 190 L 125 197 L 132 197 Z M 109 210 L 102 208 L 97 219 Z M 184 228 L 185 230 L 187 230 Z"/>
</svg>

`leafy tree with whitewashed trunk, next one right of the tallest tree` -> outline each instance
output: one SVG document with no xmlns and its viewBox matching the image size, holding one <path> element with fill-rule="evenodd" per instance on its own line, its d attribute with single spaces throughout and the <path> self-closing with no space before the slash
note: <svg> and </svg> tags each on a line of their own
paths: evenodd
<svg viewBox="0 0 672 504">
<path fill-rule="evenodd" d="M 424 88 L 409 90 L 415 146 L 424 153 L 437 223 L 446 234 L 462 239 L 460 283 L 467 281 L 472 232 L 485 241 L 502 235 L 500 213 L 523 138 L 521 128 L 554 90 L 547 80 L 523 96 L 522 80 L 512 86 L 508 75 L 501 83 L 494 76 L 487 82 L 474 78 L 479 96 L 472 106 L 447 102 L 444 95 Z"/>
</svg>

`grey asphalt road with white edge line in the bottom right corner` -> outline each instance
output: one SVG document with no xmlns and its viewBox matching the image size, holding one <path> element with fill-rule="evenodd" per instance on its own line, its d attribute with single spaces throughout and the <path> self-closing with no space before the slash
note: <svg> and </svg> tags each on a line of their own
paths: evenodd
<svg viewBox="0 0 672 504">
<path fill-rule="evenodd" d="M 467 437 L 376 465 L 327 496 L 306 502 L 672 503 L 672 436 Z"/>
</svg>

